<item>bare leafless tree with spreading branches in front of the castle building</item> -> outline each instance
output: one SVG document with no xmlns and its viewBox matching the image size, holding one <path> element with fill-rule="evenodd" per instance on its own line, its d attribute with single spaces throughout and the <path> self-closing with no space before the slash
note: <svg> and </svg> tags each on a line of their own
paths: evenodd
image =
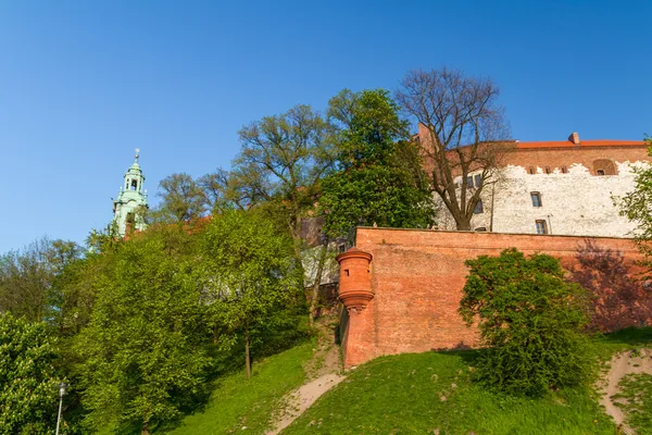
<svg viewBox="0 0 652 435">
<path fill-rule="evenodd" d="M 409 72 L 396 94 L 403 110 L 425 132 L 419 139 L 430 187 L 457 229 L 472 229 L 475 207 L 487 186 L 498 179 L 496 170 L 509 148 L 499 95 L 491 79 L 467 77 L 446 67 Z M 472 174 L 480 175 L 477 185 L 468 183 Z"/>
</svg>

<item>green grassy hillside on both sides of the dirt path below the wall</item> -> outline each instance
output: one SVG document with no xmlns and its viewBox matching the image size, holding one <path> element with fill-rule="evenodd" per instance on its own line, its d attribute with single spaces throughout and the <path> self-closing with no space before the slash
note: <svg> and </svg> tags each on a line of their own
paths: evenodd
<svg viewBox="0 0 652 435">
<path fill-rule="evenodd" d="M 652 345 L 652 328 L 595 341 L 609 360 L 619 350 Z M 264 434 L 283 397 L 306 378 L 314 344 L 261 361 L 251 383 L 241 374 L 216 387 L 204 412 L 174 434 Z M 477 352 L 425 352 L 378 358 L 347 374 L 283 435 L 297 434 L 614 434 L 616 427 L 587 388 L 532 400 L 482 390 L 469 382 Z"/>
</svg>

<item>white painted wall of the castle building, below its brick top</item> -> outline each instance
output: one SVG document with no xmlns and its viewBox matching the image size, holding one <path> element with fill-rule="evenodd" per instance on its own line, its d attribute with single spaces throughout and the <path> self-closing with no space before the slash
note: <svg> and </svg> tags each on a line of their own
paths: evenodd
<svg viewBox="0 0 652 435">
<path fill-rule="evenodd" d="M 616 162 L 617 175 L 591 175 L 581 164 L 568 167 L 563 174 L 555 170 L 546 174 L 541 167 L 530 175 L 523 166 L 501 170 L 493 198 L 493 232 L 536 234 L 537 220 L 546 220 L 549 234 L 572 236 L 630 237 L 635 225 L 618 215 L 614 198 L 634 188 L 632 167 L 647 162 Z M 532 207 L 530 192 L 541 195 L 542 207 Z M 472 227 L 491 226 L 491 186 L 482 192 L 485 212 L 474 215 Z M 442 204 L 443 206 L 443 204 Z M 455 229 L 446 207 L 439 214 L 439 227 Z"/>
</svg>

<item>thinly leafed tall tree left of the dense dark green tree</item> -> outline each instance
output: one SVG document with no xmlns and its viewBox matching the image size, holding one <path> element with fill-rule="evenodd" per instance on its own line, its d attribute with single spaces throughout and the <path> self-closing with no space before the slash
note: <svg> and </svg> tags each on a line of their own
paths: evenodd
<svg viewBox="0 0 652 435">
<path fill-rule="evenodd" d="M 242 149 L 217 186 L 241 209 L 265 204 L 284 222 L 301 259 L 303 220 L 334 164 L 329 125 L 308 105 L 265 116 L 238 132 Z M 220 182 L 220 179 L 217 179 Z"/>
</svg>

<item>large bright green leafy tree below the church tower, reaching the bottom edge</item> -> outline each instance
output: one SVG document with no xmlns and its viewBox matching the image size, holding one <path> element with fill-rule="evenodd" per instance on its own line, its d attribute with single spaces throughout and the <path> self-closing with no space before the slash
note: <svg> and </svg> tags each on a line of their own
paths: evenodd
<svg viewBox="0 0 652 435">
<path fill-rule="evenodd" d="M 138 426 L 143 434 L 180 414 L 210 364 L 195 279 L 193 236 L 150 227 L 117 246 L 97 277 L 88 327 L 77 336 L 86 425 Z"/>
</svg>

